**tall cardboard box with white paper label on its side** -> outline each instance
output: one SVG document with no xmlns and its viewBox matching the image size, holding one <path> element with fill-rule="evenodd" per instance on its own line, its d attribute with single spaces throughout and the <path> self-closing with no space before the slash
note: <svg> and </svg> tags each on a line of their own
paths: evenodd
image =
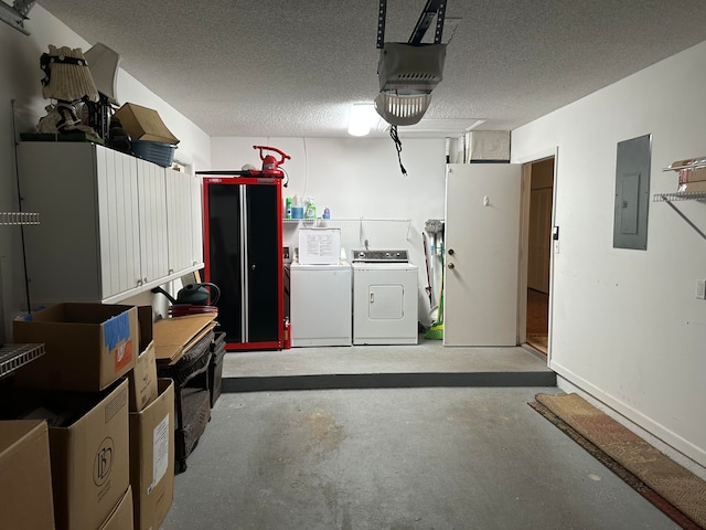
<svg viewBox="0 0 706 530">
<path fill-rule="evenodd" d="M 158 529 L 174 497 L 174 383 L 159 380 L 159 398 L 130 413 L 130 484 L 135 529 Z"/>
</svg>

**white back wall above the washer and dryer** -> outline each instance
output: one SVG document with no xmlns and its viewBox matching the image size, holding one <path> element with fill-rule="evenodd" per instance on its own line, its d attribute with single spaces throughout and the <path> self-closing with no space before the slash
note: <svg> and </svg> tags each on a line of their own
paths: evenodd
<svg viewBox="0 0 706 530">
<path fill-rule="evenodd" d="M 254 145 L 277 147 L 291 156 L 282 165 L 289 176 L 285 197 L 312 198 L 319 216 L 329 206 L 333 221 L 346 220 L 338 224 L 349 256 L 352 248 L 363 247 L 365 239 L 372 248 L 409 251 L 410 262 L 419 267 L 419 319 L 429 324 L 421 233 L 426 220 L 443 218 L 445 140 L 403 139 L 407 177 L 400 172 L 391 138 L 212 138 L 211 169 L 240 169 L 245 163 L 259 168 Z M 376 221 L 353 221 L 360 219 Z M 285 244 L 297 246 L 296 229 L 286 226 Z M 432 263 L 438 266 L 438 261 Z"/>
</svg>

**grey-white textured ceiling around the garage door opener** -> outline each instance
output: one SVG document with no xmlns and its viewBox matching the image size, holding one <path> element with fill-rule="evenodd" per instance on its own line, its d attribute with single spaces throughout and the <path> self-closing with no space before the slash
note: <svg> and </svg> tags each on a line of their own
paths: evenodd
<svg viewBox="0 0 706 530">
<path fill-rule="evenodd" d="M 350 104 L 378 89 L 378 0 L 39 3 L 117 51 L 122 68 L 211 136 L 346 136 Z M 388 0 L 385 40 L 406 42 L 425 3 Z M 509 130 L 706 40 L 706 9 L 703 0 L 448 0 L 449 39 L 425 120 L 480 118 L 479 129 Z"/>
</svg>

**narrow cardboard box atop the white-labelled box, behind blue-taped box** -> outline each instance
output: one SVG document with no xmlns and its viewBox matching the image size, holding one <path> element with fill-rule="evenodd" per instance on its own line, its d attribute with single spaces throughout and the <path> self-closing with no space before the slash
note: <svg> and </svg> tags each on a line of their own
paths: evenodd
<svg viewBox="0 0 706 530">
<path fill-rule="evenodd" d="M 140 412 L 157 399 L 157 361 L 152 340 L 152 308 L 138 308 L 140 324 L 140 354 L 128 373 L 130 382 L 130 412 Z"/>
</svg>

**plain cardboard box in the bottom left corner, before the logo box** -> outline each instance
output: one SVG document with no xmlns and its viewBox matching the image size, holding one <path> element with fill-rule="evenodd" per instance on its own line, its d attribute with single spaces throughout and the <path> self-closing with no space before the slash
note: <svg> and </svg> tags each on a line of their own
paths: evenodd
<svg viewBox="0 0 706 530">
<path fill-rule="evenodd" d="M 40 420 L 0 422 L 2 528 L 54 530 L 49 428 Z"/>
</svg>

